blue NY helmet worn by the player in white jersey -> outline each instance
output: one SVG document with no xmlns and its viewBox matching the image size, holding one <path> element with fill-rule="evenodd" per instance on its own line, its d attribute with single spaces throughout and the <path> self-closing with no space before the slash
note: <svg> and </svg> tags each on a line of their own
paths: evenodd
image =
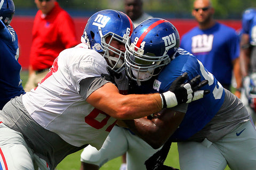
<svg viewBox="0 0 256 170">
<path fill-rule="evenodd" d="M 82 43 L 86 43 L 91 49 L 96 50 L 107 58 L 111 70 L 120 73 L 124 70 L 124 52 L 111 47 L 111 40 L 118 40 L 125 44 L 131 36 L 134 25 L 131 19 L 116 10 L 102 10 L 93 14 L 87 21 L 84 34 L 81 37 Z M 106 37 L 111 36 L 110 42 L 106 43 Z M 109 55 L 109 50 L 119 55 L 119 58 Z"/>
</svg>

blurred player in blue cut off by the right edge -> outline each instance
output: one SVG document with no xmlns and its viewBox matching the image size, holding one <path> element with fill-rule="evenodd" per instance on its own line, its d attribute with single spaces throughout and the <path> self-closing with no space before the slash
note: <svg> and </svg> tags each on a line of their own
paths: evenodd
<svg viewBox="0 0 256 170">
<path fill-rule="evenodd" d="M 243 91 L 241 99 L 256 120 L 256 9 L 247 8 L 242 15 L 240 43 Z"/>
</svg>

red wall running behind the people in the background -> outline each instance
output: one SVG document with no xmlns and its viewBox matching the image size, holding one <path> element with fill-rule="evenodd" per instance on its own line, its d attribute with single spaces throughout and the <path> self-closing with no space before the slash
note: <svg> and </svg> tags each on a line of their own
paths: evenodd
<svg viewBox="0 0 256 170">
<path fill-rule="evenodd" d="M 89 18 L 74 18 L 77 38 L 83 34 L 84 27 Z M 189 31 L 191 28 L 197 25 L 194 19 L 167 19 L 172 22 L 173 25 L 178 29 L 180 37 Z M 33 27 L 34 16 L 14 16 L 12 20 L 12 27 L 18 34 L 18 40 L 20 45 L 20 57 L 19 63 L 22 66 L 22 70 L 27 70 L 29 65 L 29 53 L 32 41 L 32 27 Z M 218 20 L 219 22 L 233 27 L 235 30 L 241 28 L 240 20 Z"/>
</svg>

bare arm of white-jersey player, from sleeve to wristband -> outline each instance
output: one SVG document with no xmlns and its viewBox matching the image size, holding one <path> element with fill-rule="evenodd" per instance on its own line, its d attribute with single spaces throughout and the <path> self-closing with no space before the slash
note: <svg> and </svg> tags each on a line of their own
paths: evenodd
<svg viewBox="0 0 256 170">
<path fill-rule="evenodd" d="M 159 94 L 121 95 L 113 83 L 106 83 L 92 92 L 86 101 L 117 119 L 134 119 L 161 111 Z"/>
</svg>

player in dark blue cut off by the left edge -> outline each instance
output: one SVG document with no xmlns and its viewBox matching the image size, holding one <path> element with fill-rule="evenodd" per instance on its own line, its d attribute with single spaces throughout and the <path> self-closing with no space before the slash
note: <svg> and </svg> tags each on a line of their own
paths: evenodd
<svg viewBox="0 0 256 170">
<path fill-rule="evenodd" d="M 25 94 L 18 62 L 18 36 L 11 27 L 15 6 L 12 0 L 0 0 L 0 110 L 11 98 Z"/>
</svg>

